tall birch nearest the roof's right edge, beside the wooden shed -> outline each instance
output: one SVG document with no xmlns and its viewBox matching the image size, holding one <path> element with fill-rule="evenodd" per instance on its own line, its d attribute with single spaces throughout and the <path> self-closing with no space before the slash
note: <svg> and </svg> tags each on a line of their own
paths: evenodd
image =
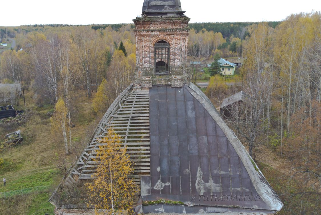
<svg viewBox="0 0 321 215">
<path fill-rule="evenodd" d="M 268 62 L 270 62 L 271 30 L 267 23 L 260 23 L 258 28 L 253 31 L 246 49 L 246 63 L 243 67 L 244 87 L 243 91 L 247 97 L 243 103 L 243 113 L 241 116 L 244 123 L 242 128 L 238 128 L 239 132 L 248 140 L 250 156 L 255 158 L 256 137 L 262 130 L 266 114 L 264 111 L 269 103 L 272 92 L 272 81 L 270 77 L 271 70 Z M 245 110 L 247 109 L 247 110 Z M 237 116 L 238 114 L 234 114 Z"/>
</svg>

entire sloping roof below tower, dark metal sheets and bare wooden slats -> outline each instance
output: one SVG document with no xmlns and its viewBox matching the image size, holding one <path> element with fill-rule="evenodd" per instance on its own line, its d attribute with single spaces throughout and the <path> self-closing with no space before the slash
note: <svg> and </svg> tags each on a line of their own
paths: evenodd
<svg viewBox="0 0 321 215">
<path fill-rule="evenodd" d="M 143 205 L 143 213 L 270 214 L 282 208 L 244 146 L 192 83 L 182 88 L 130 85 L 100 121 L 65 184 L 92 178 L 99 139 L 115 123 L 131 126 L 113 128 L 124 136 L 122 144 L 128 145 L 129 153 L 136 153 L 131 154 L 138 164 L 131 177 L 141 185 L 142 201 L 184 202 Z M 128 129 L 133 133 L 127 136 Z M 141 166 L 144 170 L 137 171 Z M 56 192 L 52 202 L 55 196 Z"/>
</svg>

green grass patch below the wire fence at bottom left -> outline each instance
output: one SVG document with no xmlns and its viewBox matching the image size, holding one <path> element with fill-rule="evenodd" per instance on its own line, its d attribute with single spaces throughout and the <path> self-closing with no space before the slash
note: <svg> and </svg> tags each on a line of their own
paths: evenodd
<svg viewBox="0 0 321 215">
<path fill-rule="evenodd" d="M 31 205 L 28 208 L 27 215 L 34 215 L 37 210 L 43 210 L 43 209 L 54 210 L 55 207 L 50 202 L 48 202 L 48 199 L 49 199 L 48 193 L 37 194 L 32 199 Z"/>
</svg>

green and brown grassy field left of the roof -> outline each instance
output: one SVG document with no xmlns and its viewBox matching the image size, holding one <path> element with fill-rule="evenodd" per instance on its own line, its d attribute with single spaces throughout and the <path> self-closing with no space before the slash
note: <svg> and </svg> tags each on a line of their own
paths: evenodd
<svg viewBox="0 0 321 215">
<path fill-rule="evenodd" d="M 21 189 L 30 193 L 32 187 L 56 187 L 61 181 L 62 176 L 56 169 L 56 163 L 57 155 L 65 153 L 65 146 L 60 135 L 51 132 L 50 115 L 54 106 L 37 107 L 33 98 L 33 92 L 25 90 L 26 107 L 21 99 L 20 105 L 14 108 L 26 111 L 19 117 L 0 121 L 0 143 L 3 143 L 5 134 L 16 130 L 21 130 L 23 137 L 22 144 L 0 151 L 0 178 L 6 178 L 6 186 L 1 184 L 0 193 L 17 191 L 19 194 Z M 96 120 L 96 115 L 92 110 L 92 99 L 86 98 L 83 92 L 75 93 L 73 103 L 72 123 L 75 127 L 72 128 L 72 145 L 81 148 L 88 125 Z M 69 165 L 78 154 L 78 151 L 73 151 L 67 157 Z M 36 210 L 53 208 L 48 203 L 51 191 L 30 194 L 27 214 L 33 215 Z"/>
</svg>

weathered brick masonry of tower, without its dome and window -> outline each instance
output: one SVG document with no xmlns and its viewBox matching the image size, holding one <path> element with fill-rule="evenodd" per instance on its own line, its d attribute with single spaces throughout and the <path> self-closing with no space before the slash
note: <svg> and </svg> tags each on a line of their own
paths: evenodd
<svg viewBox="0 0 321 215">
<path fill-rule="evenodd" d="M 136 76 L 135 84 L 142 87 L 152 85 L 172 85 L 182 87 L 190 82 L 187 67 L 188 22 L 183 17 L 150 17 L 134 19 L 136 36 Z M 160 40 L 170 45 L 169 75 L 155 75 L 154 46 Z"/>
</svg>

